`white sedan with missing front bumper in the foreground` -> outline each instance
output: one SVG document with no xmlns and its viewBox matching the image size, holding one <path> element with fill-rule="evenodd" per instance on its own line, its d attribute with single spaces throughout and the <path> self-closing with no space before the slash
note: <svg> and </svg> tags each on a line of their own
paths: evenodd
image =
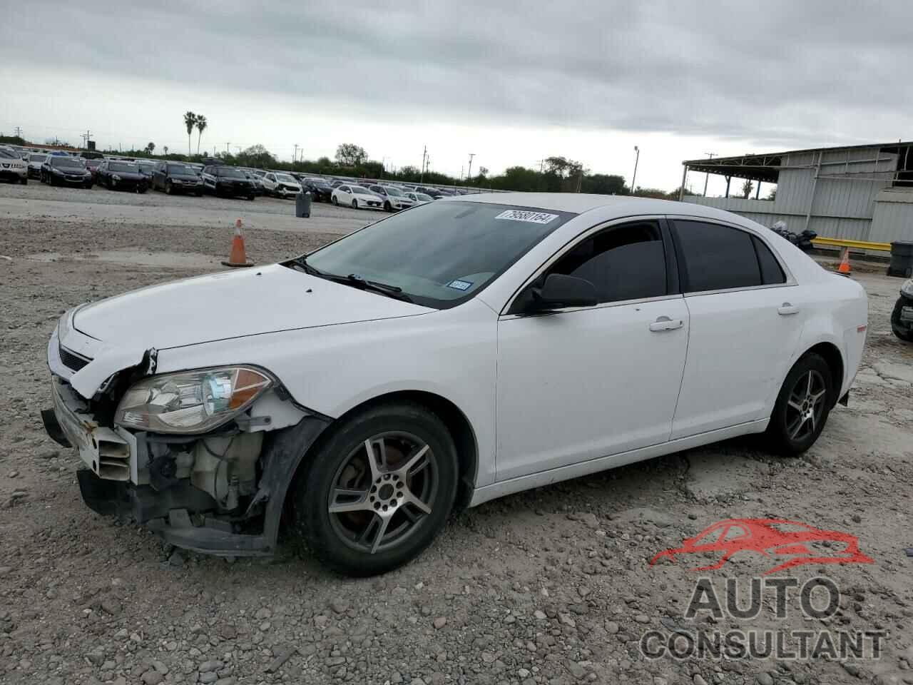
<svg viewBox="0 0 913 685">
<path fill-rule="evenodd" d="M 750 433 L 802 452 L 866 310 L 711 207 L 472 195 L 66 312 L 43 416 L 95 511 L 231 556 L 275 550 L 289 511 L 326 564 L 377 574 L 458 507 Z"/>
</svg>

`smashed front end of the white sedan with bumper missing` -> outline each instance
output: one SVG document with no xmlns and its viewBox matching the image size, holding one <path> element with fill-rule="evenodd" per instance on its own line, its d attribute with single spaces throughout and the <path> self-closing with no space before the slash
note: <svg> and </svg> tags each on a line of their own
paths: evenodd
<svg viewBox="0 0 913 685">
<path fill-rule="evenodd" d="M 330 419 L 253 365 L 155 374 L 157 353 L 146 350 L 115 354 L 134 364 L 102 380 L 111 355 L 66 320 L 48 344 L 53 408 L 42 419 L 79 452 L 89 507 L 185 549 L 272 553 L 295 470 Z"/>
</svg>

